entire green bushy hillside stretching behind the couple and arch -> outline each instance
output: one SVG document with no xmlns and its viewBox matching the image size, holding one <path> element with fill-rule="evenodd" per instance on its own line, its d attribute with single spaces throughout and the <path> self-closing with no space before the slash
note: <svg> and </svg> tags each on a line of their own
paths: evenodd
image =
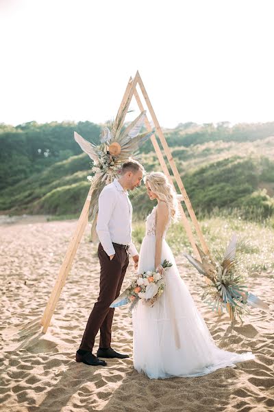
<svg viewBox="0 0 274 412">
<path fill-rule="evenodd" d="M 99 126 L 90 122 L 0 125 L 2 213 L 79 214 L 90 159 L 75 143 L 74 130 L 90 141 L 99 139 Z M 224 209 L 241 210 L 246 218 L 273 214 L 274 123 L 185 124 L 165 135 L 198 214 Z M 142 163 L 147 171 L 160 170 L 150 141 L 142 146 Z M 131 195 L 136 216 L 151 209 L 144 194 L 141 187 Z"/>
</svg>

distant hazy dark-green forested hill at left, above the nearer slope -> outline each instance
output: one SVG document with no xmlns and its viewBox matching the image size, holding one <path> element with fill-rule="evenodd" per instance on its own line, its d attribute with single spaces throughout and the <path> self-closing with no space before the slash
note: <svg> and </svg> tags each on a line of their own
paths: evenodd
<svg viewBox="0 0 274 412">
<path fill-rule="evenodd" d="M 99 141 L 101 128 L 90 122 L 0 124 L 0 190 L 82 153 L 73 139 L 74 130 L 87 140 Z"/>
</svg>

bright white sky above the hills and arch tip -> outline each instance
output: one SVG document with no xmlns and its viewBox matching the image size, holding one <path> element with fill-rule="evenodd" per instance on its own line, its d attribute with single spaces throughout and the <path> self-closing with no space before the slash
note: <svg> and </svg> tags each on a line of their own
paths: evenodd
<svg viewBox="0 0 274 412">
<path fill-rule="evenodd" d="M 105 122 L 137 69 L 164 127 L 274 121 L 273 15 L 272 0 L 0 0 L 0 123 Z"/>
</svg>

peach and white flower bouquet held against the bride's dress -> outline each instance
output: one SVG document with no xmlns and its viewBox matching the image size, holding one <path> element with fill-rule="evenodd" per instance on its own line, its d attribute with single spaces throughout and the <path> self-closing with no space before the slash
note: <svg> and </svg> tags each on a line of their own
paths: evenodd
<svg viewBox="0 0 274 412">
<path fill-rule="evenodd" d="M 164 275 L 166 269 L 171 266 L 171 262 L 164 260 L 162 263 L 162 273 L 156 271 L 140 273 L 136 278 L 132 279 L 130 286 L 112 302 L 110 308 L 130 304 L 129 313 L 132 313 L 132 310 L 137 306 L 140 299 L 143 304 L 153 306 L 155 301 L 157 301 L 164 292 Z"/>
</svg>

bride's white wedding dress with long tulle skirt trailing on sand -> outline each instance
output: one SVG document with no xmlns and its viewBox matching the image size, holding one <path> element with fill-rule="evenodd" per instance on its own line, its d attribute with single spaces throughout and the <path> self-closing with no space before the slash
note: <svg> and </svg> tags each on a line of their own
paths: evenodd
<svg viewBox="0 0 274 412">
<path fill-rule="evenodd" d="M 155 215 L 156 207 L 147 216 L 138 273 L 154 269 Z M 168 227 L 169 224 L 166 230 Z M 166 273 L 164 293 L 153 307 L 139 301 L 132 313 L 134 368 L 151 379 L 201 376 L 253 359 L 255 356 L 251 352 L 236 354 L 216 347 L 186 284 L 179 276 L 166 240 L 162 241 L 162 262 L 164 259 L 173 264 Z"/>
</svg>

